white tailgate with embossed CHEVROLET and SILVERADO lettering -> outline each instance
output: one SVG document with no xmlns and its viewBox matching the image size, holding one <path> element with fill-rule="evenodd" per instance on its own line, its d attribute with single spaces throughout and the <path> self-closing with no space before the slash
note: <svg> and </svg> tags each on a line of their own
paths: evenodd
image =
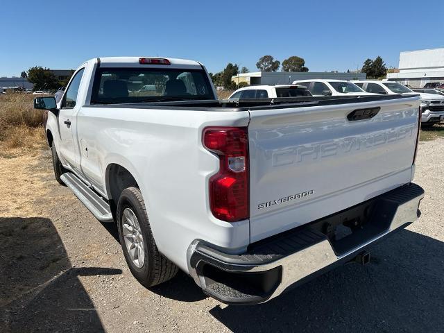
<svg viewBox="0 0 444 333">
<path fill-rule="evenodd" d="M 419 103 L 413 96 L 250 109 L 250 241 L 409 183 Z M 348 119 L 363 109 L 379 112 Z"/>
</svg>

